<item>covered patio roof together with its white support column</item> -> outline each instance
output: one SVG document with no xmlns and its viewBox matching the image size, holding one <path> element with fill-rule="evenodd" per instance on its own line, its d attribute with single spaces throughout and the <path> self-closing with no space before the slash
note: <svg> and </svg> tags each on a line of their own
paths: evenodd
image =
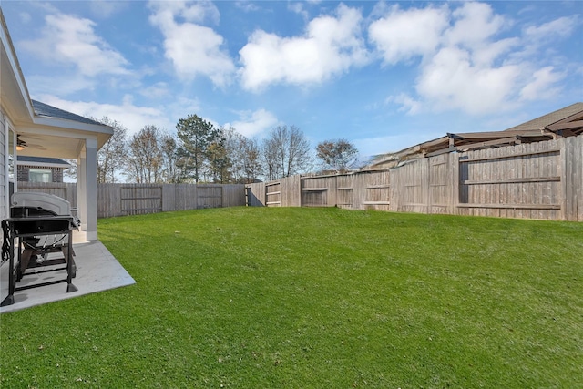
<svg viewBox="0 0 583 389">
<path fill-rule="evenodd" d="M 113 135 L 113 128 L 33 101 L 1 9 L 0 25 L 0 117 L 4 118 L 4 154 L 9 152 L 8 144 L 20 142 L 22 147 L 16 148 L 17 155 L 77 159 L 81 229 L 86 231 L 87 241 L 97 240 L 97 150 Z M 17 138 L 11 138 L 7 128 L 14 130 Z"/>
</svg>

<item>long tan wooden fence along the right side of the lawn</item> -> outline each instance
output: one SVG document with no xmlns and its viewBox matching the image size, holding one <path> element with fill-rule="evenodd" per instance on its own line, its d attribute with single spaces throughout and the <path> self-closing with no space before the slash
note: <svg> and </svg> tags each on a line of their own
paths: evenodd
<svg viewBox="0 0 583 389">
<path fill-rule="evenodd" d="M 583 136 L 246 186 L 247 204 L 583 221 Z"/>
</svg>

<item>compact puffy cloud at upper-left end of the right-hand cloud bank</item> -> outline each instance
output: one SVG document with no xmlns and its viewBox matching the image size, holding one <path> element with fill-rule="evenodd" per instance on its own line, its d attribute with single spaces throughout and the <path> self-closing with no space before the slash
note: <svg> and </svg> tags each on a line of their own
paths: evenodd
<svg viewBox="0 0 583 389">
<path fill-rule="evenodd" d="M 430 55 L 448 26 L 447 8 L 401 10 L 394 5 L 388 15 L 369 26 L 369 36 L 384 62 L 396 64 L 413 56 Z"/>
</svg>

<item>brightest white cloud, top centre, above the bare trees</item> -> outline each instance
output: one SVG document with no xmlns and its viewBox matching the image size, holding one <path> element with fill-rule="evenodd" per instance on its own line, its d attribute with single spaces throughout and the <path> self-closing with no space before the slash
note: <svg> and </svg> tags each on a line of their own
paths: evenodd
<svg viewBox="0 0 583 389">
<path fill-rule="evenodd" d="M 255 31 L 240 49 L 242 86 L 258 91 L 274 83 L 320 83 L 368 60 L 360 11 L 339 5 L 336 15 L 313 19 L 303 36 Z"/>
</svg>

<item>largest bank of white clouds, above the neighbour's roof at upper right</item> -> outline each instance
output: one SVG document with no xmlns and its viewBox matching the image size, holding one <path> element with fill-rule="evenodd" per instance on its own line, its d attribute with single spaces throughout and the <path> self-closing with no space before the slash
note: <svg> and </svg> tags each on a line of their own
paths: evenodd
<svg viewBox="0 0 583 389">
<path fill-rule="evenodd" d="M 423 57 L 413 86 L 416 95 L 386 100 L 409 114 L 431 107 L 483 115 L 557 95 L 557 82 L 564 75 L 557 64 L 549 66 L 552 56 L 539 55 L 541 46 L 570 35 L 578 23 L 578 16 L 562 17 L 512 36 L 514 22 L 483 3 L 463 3 L 453 10 L 378 9 L 384 14 L 371 24 L 369 34 L 384 62 L 395 65 Z"/>
</svg>

